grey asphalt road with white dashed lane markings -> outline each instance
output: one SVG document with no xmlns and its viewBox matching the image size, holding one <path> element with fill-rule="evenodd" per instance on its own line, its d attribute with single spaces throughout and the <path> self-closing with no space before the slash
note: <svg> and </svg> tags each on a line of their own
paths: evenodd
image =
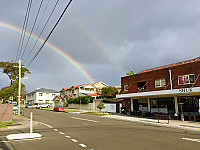
<svg viewBox="0 0 200 150">
<path fill-rule="evenodd" d="M 15 150 L 197 150 L 200 133 L 164 127 L 154 127 L 108 118 L 52 112 L 38 109 L 22 109 L 29 116 L 33 112 L 36 121 L 44 125 L 34 128 L 43 135 L 41 139 L 1 142 L 1 149 Z M 25 133 L 29 129 L 3 131 L 8 134 Z"/>
</svg>

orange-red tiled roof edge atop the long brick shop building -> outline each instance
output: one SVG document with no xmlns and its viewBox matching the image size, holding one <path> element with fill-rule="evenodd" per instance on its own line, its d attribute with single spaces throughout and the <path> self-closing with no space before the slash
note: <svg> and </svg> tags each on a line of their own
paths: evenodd
<svg viewBox="0 0 200 150">
<path fill-rule="evenodd" d="M 156 71 L 156 70 L 161 70 L 161 69 L 166 69 L 166 68 L 171 68 L 171 67 L 175 67 L 175 66 L 180 66 L 180 65 L 185 65 L 185 64 L 189 64 L 189 63 L 198 62 L 198 61 L 200 61 L 200 57 L 197 57 L 197 58 L 194 58 L 194 59 L 190 59 L 190 60 L 186 60 L 186 61 L 182 61 L 182 62 L 169 64 L 169 65 L 165 65 L 165 66 L 160 66 L 160 67 L 156 67 L 156 68 L 152 68 L 152 69 L 143 70 L 141 72 L 138 72 L 137 74 Z"/>
</svg>

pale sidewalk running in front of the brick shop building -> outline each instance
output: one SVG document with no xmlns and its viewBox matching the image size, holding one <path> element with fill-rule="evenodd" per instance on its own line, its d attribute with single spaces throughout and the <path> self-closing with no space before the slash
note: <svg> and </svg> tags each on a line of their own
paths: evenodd
<svg viewBox="0 0 200 150">
<path fill-rule="evenodd" d="M 105 118 L 116 119 L 116 120 L 123 120 L 129 122 L 136 122 L 136 123 L 143 123 L 152 126 L 162 126 L 168 128 L 178 128 L 184 130 L 192 130 L 192 131 L 200 131 L 200 122 L 192 122 L 192 121 L 177 121 L 177 120 L 159 120 L 158 119 L 148 119 L 148 118 L 139 118 L 134 116 L 126 116 L 126 115 L 107 115 L 102 116 Z"/>
</svg>

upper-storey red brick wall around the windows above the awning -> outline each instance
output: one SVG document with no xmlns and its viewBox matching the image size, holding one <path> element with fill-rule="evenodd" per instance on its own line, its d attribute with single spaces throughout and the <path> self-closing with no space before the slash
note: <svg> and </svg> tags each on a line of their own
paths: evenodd
<svg viewBox="0 0 200 150">
<path fill-rule="evenodd" d="M 155 79 L 166 79 L 166 84 L 168 85 L 170 82 L 169 79 L 169 70 L 172 71 L 172 81 L 173 89 L 178 88 L 186 88 L 191 87 L 192 84 L 189 85 L 178 85 L 178 76 L 180 75 L 187 75 L 187 74 L 195 74 L 195 79 L 197 78 L 198 74 L 200 74 L 200 62 L 193 62 L 188 63 L 180 66 L 175 66 L 171 68 L 146 72 L 142 74 L 135 74 L 133 76 L 126 76 L 121 78 L 121 86 L 122 86 L 122 93 L 136 93 L 138 92 L 137 89 L 137 82 L 146 81 L 148 84 L 146 85 L 146 90 L 141 90 L 140 92 L 145 91 L 157 91 L 157 90 L 164 90 L 165 87 L 156 88 L 155 87 Z M 124 91 L 124 85 L 128 85 L 128 91 Z M 200 77 L 198 78 L 194 87 L 200 86 Z M 166 87 L 166 90 L 170 89 L 170 85 Z"/>
</svg>

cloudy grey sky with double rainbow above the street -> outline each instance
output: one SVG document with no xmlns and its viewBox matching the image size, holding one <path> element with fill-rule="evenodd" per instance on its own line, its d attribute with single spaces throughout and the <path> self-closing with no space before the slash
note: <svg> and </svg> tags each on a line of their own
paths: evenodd
<svg viewBox="0 0 200 150">
<path fill-rule="evenodd" d="M 55 3 L 43 1 L 24 56 L 17 58 L 28 0 L 1 0 L 0 61 L 22 59 L 28 65 L 68 1 L 59 1 L 28 57 Z M 39 5 L 40 1 L 32 2 L 27 35 Z M 200 0 L 73 0 L 22 82 L 28 92 L 36 88 L 59 91 L 100 81 L 117 86 L 131 70 L 137 73 L 199 57 L 199 18 Z M 9 84 L 8 77 L 0 73 L 0 88 Z"/>
</svg>

